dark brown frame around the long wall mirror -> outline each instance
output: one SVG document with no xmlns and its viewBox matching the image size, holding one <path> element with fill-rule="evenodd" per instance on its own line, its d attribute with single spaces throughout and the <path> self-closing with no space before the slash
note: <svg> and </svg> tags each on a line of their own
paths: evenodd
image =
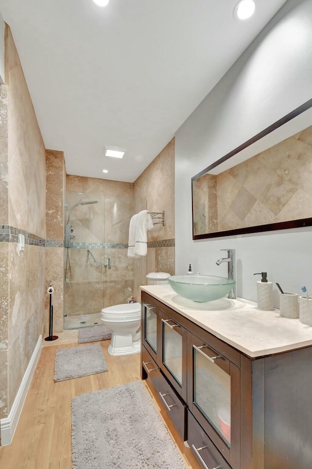
<svg viewBox="0 0 312 469">
<path fill-rule="evenodd" d="M 208 173 L 209 171 L 211 171 L 213 168 L 215 168 L 219 164 L 223 163 L 227 159 L 231 158 L 232 156 L 236 155 L 240 151 L 242 151 L 245 148 L 249 147 L 254 142 L 259 140 L 260 138 L 265 137 L 266 135 L 270 134 L 271 132 L 273 132 L 273 130 L 275 130 L 278 127 L 282 126 L 283 124 L 290 121 L 291 119 L 298 116 L 299 114 L 303 113 L 304 111 L 307 111 L 311 107 L 312 107 L 312 99 L 309 99 L 309 101 L 306 101 L 304 104 L 297 107 L 296 109 L 294 109 L 292 112 L 290 112 L 286 116 L 282 117 L 281 119 L 277 120 L 272 125 L 270 125 L 266 129 L 262 130 L 257 135 L 255 135 L 254 137 L 247 140 L 245 143 L 242 143 L 239 147 L 235 148 L 234 150 L 232 150 L 227 155 L 222 156 L 222 158 L 215 161 L 215 163 L 211 164 L 210 166 L 208 166 L 207 168 L 202 170 L 200 173 L 198 173 L 198 174 L 196 174 L 195 176 L 192 177 L 193 239 L 215 238 L 215 237 L 219 237 L 219 236 L 231 236 L 231 235 L 243 235 L 243 234 L 247 234 L 247 233 L 261 233 L 261 232 L 264 232 L 264 231 L 284 230 L 284 229 L 287 229 L 287 228 L 299 228 L 299 227 L 303 227 L 303 226 L 312 226 L 312 218 L 302 218 L 302 219 L 298 219 L 298 220 L 283 221 L 283 222 L 271 223 L 271 224 L 267 224 L 267 225 L 249 226 L 249 227 L 244 227 L 244 228 L 237 228 L 237 229 L 234 229 L 234 230 L 217 231 L 217 232 L 214 232 L 214 233 L 203 233 L 203 234 L 200 234 L 200 235 L 195 235 L 194 234 L 194 197 L 193 197 L 194 181 L 196 179 L 198 179 L 198 177 L 203 176 L 204 174 Z"/>
</svg>

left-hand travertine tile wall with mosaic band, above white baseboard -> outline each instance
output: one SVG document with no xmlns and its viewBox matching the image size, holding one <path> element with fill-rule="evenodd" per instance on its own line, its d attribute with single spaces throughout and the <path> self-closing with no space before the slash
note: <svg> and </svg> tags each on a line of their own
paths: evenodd
<svg viewBox="0 0 312 469">
<path fill-rule="evenodd" d="M 12 408 L 43 331 L 46 236 L 45 150 L 8 26 L 5 49 L 6 85 L 0 92 L 0 418 Z M 25 234 L 23 252 L 18 251 L 19 233 Z"/>
</svg>

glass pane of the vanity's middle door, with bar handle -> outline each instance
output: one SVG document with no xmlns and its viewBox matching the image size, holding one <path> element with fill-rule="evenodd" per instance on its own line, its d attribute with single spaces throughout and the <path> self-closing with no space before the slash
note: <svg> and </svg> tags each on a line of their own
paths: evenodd
<svg viewBox="0 0 312 469">
<path fill-rule="evenodd" d="M 166 369 L 182 386 L 182 328 L 163 314 L 162 321 L 162 362 Z"/>
</svg>

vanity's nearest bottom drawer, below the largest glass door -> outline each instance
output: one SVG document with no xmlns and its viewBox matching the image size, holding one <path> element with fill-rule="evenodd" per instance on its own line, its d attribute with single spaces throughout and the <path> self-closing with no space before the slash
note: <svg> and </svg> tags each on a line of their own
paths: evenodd
<svg viewBox="0 0 312 469">
<path fill-rule="evenodd" d="M 189 410 L 187 411 L 187 442 L 202 468 L 231 469 Z"/>
</svg>

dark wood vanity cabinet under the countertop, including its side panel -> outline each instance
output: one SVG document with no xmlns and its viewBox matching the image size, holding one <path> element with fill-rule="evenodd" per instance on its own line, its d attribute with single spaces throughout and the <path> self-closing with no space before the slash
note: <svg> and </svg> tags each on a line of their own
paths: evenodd
<svg viewBox="0 0 312 469">
<path fill-rule="evenodd" d="M 312 347 L 256 358 L 142 292 L 141 377 L 203 469 L 312 468 Z"/>
</svg>

